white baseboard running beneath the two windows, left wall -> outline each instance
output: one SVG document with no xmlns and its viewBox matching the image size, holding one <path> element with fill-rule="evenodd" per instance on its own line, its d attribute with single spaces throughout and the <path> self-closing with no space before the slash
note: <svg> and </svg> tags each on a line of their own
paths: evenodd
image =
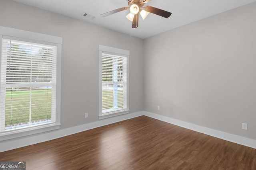
<svg viewBox="0 0 256 170">
<path fill-rule="evenodd" d="M 0 142 L 0 152 L 17 149 L 20 147 L 26 147 L 28 145 L 34 145 L 34 144 L 45 142 L 45 141 L 50 141 L 52 139 L 57 139 L 60 137 L 72 135 L 72 134 L 79 133 L 82 131 L 87 131 L 90 129 L 94 129 L 96 127 L 101 127 L 101 126 L 109 125 L 109 124 L 116 123 L 119 121 L 132 119 L 134 117 L 138 117 L 141 115 L 143 115 L 143 111 L 136 112 L 136 113 L 129 113 L 129 114 L 120 115 L 120 116 L 116 116 L 116 117 L 111 117 L 108 119 L 102 119 L 102 120 L 99 120 L 96 122 L 87 123 L 87 124 L 79 125 L 79 126 L 75 126 L 75 127 L 70 127 L 67 129 L 59 129 L 59 130 L 55 130 L 55 131 L 48 131 L 46 133 L 39 133 L 39 134 L 32 135 L 32 136 L 26 136 L 26 137 L 20 137 L 20 138 L 16 138 L 16 139 L 1 141 Z"/>
</svg>

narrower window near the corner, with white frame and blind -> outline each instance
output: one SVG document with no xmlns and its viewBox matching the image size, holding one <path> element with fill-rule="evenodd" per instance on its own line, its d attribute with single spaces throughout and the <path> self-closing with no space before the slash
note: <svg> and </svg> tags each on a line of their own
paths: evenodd
<svg viewBox="0 0 256 170">
<path fill-rule="evenodd" d="M 129 51 L 99 46 L 100 119 L 129 113 Z"/>
</svg>

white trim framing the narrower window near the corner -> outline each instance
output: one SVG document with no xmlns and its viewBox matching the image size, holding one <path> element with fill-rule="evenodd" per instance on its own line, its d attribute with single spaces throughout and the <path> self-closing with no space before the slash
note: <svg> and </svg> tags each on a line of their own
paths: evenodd
<svg viewBox="0 0 256 170">
<path fill-rule="evenodd" d="M 103 52 L 108 52 L 113 55 L 120 55 L 120 56 L 126 56 L 127 57 L 127 109 L 124 110 L 118 110 L 118 111 L 113 111 L 109 114 L 104 114 L 102 115 L 102 53 Z M 109 117 L 114 117 L 118 115 L 123 115 L 129 113 L 129 56 L 130 56 L 130 51 L 124 50 L 124 49 L 118 49 L 118 48 L 113 48 L 113 47 L 108 47 L 104 45 L 99 45 L 99 119 L 106 119 Z"/>
</svg>

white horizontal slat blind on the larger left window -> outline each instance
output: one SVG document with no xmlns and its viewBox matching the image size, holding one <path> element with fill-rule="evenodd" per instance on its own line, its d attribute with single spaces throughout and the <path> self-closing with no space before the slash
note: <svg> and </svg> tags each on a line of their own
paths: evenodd
<svg viewBox="0 0 256 170">
<path fill-rule="evenodd" d="M 2 39 L 0 131 L 55 122 L 56 51 Z"/>
</svg>

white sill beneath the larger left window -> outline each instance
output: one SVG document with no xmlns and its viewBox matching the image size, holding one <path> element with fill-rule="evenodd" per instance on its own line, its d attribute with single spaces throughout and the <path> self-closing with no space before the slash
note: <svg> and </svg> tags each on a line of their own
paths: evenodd
<svg viewBox="0 0 256 170">
<path fill-rule="evenodd" d="M 14 139 L 18 137 L 24 137 L 28 135 L 34 135 L 37 133 L 52 131 L 56 129 L 60 129 L 60 124 L 42 125 L 38 127 L 30 127 L 27 129 L 19 129 L 16 131 L 6 131 L 6 132 L 0 133 L 0 141 Z"/>
</svg>

